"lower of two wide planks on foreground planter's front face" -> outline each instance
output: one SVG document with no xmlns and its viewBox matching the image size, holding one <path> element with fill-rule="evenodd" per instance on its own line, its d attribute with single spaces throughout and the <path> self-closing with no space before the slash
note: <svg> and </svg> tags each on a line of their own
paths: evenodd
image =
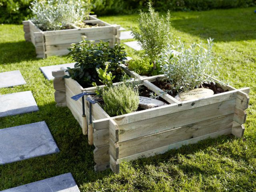
<svg viewBox="0 0 256 192">
<path fill-rule="evenodd" d="M 157 134 L 119 142 L 119 156 L 120 158 L 124 158 L 137 153 L 152 150 L 154 148 L 167 146 L 226 129 L 230 129 L 231 133 L 233 118 L 234 114 L 230 114 L 187 126 L 182 126 L 172 130 L 167 130 Z M 186 118 L 184 119 L 186 120 Z"/>
</svg>

